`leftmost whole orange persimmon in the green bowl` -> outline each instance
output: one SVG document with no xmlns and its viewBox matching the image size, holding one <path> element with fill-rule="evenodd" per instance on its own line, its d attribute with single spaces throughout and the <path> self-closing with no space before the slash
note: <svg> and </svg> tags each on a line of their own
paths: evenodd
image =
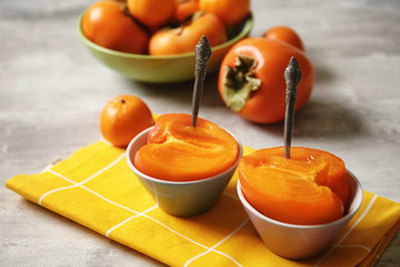
<svg viewBox="0 0 400 267">
<path fill-rule="evenodd" d="M 117 51 L 146 53 L 149 36 L 113 0 L 93 3 L 83 14 L 82 32 L 92 42 Z"/>
</svg>

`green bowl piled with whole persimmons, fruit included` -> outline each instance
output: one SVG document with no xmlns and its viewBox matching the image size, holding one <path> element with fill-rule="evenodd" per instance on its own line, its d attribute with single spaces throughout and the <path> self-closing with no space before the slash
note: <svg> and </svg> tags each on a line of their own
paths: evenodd
<svg viewBox="0 0 400 267">
<path fill-rule="evenodd" d="M 161 83 L 194 77 L 201 36 L 212 50 L 207 71 L 219 70 L 252 26 L 249 0 L 100 0 L 83 11 L 78 29 L 104 66 L 133 80 Z"/>
</svg>

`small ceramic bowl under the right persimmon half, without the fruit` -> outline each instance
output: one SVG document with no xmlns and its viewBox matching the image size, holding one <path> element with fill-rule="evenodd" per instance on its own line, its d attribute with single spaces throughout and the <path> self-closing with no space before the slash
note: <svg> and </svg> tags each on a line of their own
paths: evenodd
<svg viewBox="0 0 400 267">
<path fill-rule="evenodd" d="M 324 251 L 338 238 L 362 202 L 362 188 L 348 171 L 351 198 L 348 212 L 340 219 L 323 225 L 292 225 L 271 219 L 254 209 L 244 198 L 238 181 L 239 198 L 251 222 L 266 246 L 274 254 L 290 259 L 304 259 Z"/>
</svg>

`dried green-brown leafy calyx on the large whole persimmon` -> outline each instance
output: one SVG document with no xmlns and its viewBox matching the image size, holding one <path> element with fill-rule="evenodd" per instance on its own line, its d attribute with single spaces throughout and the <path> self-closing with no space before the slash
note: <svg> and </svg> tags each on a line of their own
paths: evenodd
<svg viewBox="0 0 400 267">
<path fill-rule="evenodd" d="M 261 86 L 261 80 L 254 77 L 256 66 L 256 59 L 243 55 L 238 56 L 233 68 L 226 66 L 222 97 L 227 107 L 233 111 L 242 110 L 251 92 Z"/>
</svg>

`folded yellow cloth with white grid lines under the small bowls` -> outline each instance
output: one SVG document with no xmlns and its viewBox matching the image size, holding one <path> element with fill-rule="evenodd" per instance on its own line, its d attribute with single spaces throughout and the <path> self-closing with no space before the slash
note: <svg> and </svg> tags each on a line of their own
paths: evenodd
<svg viewBox="0 0 400 267">
<path fill-rule="evenodd" d="M 244 155 L 252 149 L 244 147 Z M 216 207 L 178 218 L 161 211 L 128 167 L 124 150 L 98 141 L 7 187 L 30 201 L 170 266 L 372 266 L 400 228 L 400 204 L 364 191 L 332 247 L 307 260 L 272 254 L 236 192 L 236 174 Z"/>
</svg>

